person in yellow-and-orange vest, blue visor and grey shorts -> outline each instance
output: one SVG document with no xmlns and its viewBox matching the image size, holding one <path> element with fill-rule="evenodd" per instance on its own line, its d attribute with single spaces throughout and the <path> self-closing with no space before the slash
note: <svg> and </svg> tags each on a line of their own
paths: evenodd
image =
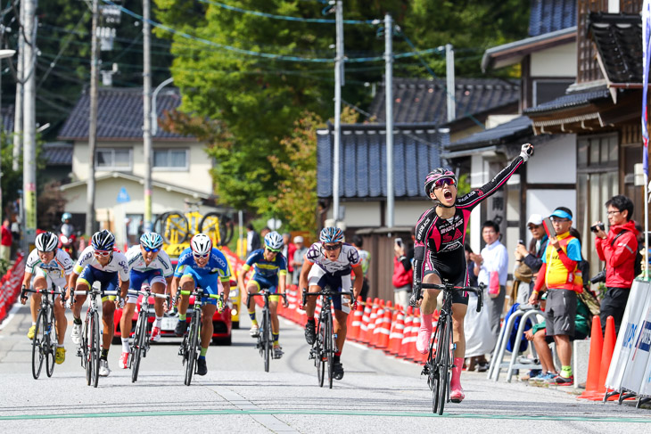
<svg viewBox="0 0 651 434">
<path fill-rule="evenodd" d="M 572 211 L 558 207 L 551 214 L 551 221 L 556 236 L 550 236 L 545 255 L 540 266 L 540 279 L 536 281 L 530 304 L 538 303 L 543 285 L 547 288 L 547 311 L 545 319 L 547 336 L 554 337 L 558 358 L 561 361 L 561 373 L 548 383 L 557 386 L 572 386 L 572 343 L 575 332 L 577 309 L 577 292 L 583 291 L 583 281 L 579 263 L 581 242 L 570 234 Z"/>
</svg>

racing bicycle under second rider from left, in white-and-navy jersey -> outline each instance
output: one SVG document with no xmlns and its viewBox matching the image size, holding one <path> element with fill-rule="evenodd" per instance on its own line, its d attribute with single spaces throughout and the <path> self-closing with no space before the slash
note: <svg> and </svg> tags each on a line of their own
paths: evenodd
<svg viewBox="0 0 651 434">
<path fill-rule="evenodd" d="M 81 344 L 77 356 L 81 357 L 81 367 L 86 369 L 86 382 L 88 386 L 97 387 L 100 372 L 100 356 L 102 356 L 102 333 L 100 332 L 100 315 L 97 308 L 97 296 L 119 296 L 119 291 L 102 291 L 101 288 L 92 287 L 88 291 L 72 291 L 74 295 L 90 295 L 90 302 L 84 320 L 84 330 L 81 333 Z M 72 298 L 74 302 L 74 298 Z"/>
</svg>

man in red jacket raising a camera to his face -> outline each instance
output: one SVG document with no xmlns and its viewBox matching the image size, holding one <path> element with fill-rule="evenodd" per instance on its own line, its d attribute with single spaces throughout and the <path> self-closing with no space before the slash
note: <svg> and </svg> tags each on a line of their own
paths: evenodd
<svg viewBox="0 0 651 434">
<path fill-rule="evenodd" d="M 597 221 L 590 227 L 595 233 L 595 247 L 599 259 L 606 262 L 606 295 L 601 300 L 601 327 L 606 329 L 606 318 L 614 317 L 615 332 L 619 332 L 630 286 L 635 279 L 635 261 L 638 254 L 638 230 L 633 217 L 633 202 L 618 194 L 606 201 L 609 230 Z"/>
</svg>

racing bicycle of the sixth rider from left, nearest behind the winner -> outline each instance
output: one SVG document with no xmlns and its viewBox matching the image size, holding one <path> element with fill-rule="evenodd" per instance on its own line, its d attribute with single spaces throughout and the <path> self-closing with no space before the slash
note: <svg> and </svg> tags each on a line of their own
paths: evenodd
<svg viewBox="0 0 651 434">
<path fill-rule="evenodd" d="M 353 296 L 351 291 L 332 291 L 329 286 L 326 286 L 326 288 L 318 292 L 303 290 L 303 306 L 305 306 L 308 296 L 320 296 L 322 300 L 321 312 L 318 314 L 317 339 L 309 350 L 309 358 L 314 359 L 314 365 L 317 367 L 319 387 L 323 387 L 326 379 L 327 366 L 328 385 L 330 389 L 333 389 L 334 353 L 337 352 L 337 335 L 334 333 L 332 311 L 333 296 L 336 295 L 349 295 L 351 299 Z"/>
</svg>

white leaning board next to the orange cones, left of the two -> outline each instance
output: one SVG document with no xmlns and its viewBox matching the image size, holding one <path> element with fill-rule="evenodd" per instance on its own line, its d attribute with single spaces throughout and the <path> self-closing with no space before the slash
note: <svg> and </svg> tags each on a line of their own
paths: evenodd
<svg viewBox="0 0 651 434">
<path fill-rule="evenodd" d="M 613 359 L 610 362 L 608 376 L 606 377 L 607 389 L 617 391 L 622 389 L 622 378 L 630 358 L 630 349 L 638 341 L 642 309 L 645 307 L 648 292 L 648 282 L 633 281 L 629 301 L 626 303 L 626 309 L 622 317 L 620 332 L 614 346 Z"/>
</svg>

